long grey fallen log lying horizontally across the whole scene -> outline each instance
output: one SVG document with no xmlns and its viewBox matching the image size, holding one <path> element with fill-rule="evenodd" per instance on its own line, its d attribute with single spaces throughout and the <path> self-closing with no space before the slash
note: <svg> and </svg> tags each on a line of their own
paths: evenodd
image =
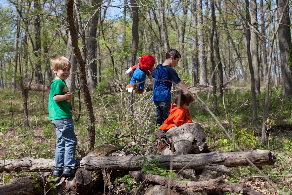
<svg viewBox="0 0 292 195">
<path fill-rule="evenodd" d="M 257 167 L 272 165 L 276 158 L 274 153 L 268 150 L 251 150 L 246 152 L 210 152 L 200 154 L 186 154 L 177 156 L 86 156 L 77 158 L 77 167 L 90 170 L 140 170 L 143 160 L 141 157 L 151 160 L 151 156 L 161 158 L 160 165 L 169 167 L 172 163 L 174 170 L 180 169 L 208 169 L 215 171 L 228 172 L 227 167 L 239 167 L 250 165 L 249 159 Z M 140 163 L 136 163 L 140 161 Z M 171 163 L 170 163 L 171 162 Z M 220 165 L 220 166 L 219 166 Z M 34 159 L 20 158 L 10 160 L 0 160 L 0 170 L 7 172 L 51 172 L 55 167 L 54 159 Z"/>
</svg>

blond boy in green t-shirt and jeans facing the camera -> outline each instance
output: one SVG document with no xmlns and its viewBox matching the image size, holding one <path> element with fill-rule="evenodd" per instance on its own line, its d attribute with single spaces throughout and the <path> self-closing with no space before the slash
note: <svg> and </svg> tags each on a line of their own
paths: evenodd
<svg viewBox="0 0 292 195">
<path fill-rule="evenodd" d="M 51 60 L 51 68 L 56 77 L 51 85 L 49 95 L 49 120 L 52 121 L 57 133 L 57 146 L 55 151 L 55 169 L 53 176 L 61 175 L 74 177 L 74 158 L 77 138 L 74 133 L 70 102 L 72 92 L 68 91 L 65 80 L 70 75 L 71 63 L 64 56 L 56 56 Z"/>
</svg>

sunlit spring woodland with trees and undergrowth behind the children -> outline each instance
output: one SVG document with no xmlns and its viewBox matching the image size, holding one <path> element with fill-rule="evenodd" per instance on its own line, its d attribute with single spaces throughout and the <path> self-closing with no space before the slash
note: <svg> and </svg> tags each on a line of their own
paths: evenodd
<svg viewBox="0 0 292 195">
<path fill-rule="evenodd" d="M 238 168 L 226 178 L 285 175 L 251 184 L 265 194 L 291 193 L 291 1 L 0 4 L 1 159 L 54 158 L 47 110 L 55 55 L 72 63 L 66 83 L 74 93 L 79 146 L 90 150 L 109 142 L 126 153 L 149 153 L 155 132 L 153 83 L 146 80 L 143 95 L 128 94 L 125 71 L 145 54 L 153 55 L 156 65 L 163 63 L 174 48 L 182 54 L 175 70 L 197 95 L 192 119 L 205 128 L 210 149 L 256 146 L 278 152 L 277 163 L 262 173 Z M 11 177 L 3 173 L 1 180 Z"/>
</svg>

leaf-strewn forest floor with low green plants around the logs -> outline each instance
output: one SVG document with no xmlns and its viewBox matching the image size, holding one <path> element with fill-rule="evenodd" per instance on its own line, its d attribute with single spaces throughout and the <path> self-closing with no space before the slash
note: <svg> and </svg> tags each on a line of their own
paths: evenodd
<svg viewBox="0 0 292 195">
<path fill-rule="evenodd" d="M 229 182 L 247 183 L 253 190 L 263 194 L 292 194 L 292 129 L 277 129 L 273 125 L 292 124 L 292 103 L 291 98 L 281 101 L 277 93 L 272 93 L 270 97 L 270 112 L 267 122 L 268 133 L 265 145 L 259 145 L 261 132 L 261 112 L 262 107 L 258 106 L 259 116 L 257 122 L 251 122 L 251 103 L 245 103 L 249 99 L 249 92 L 228 92 L 227 116 L 223 110 L 223 105 L 219 104 L 222 109 L 218 114 L 218 120 L 231 134 L 234 130 L 235 140 L 239 149 L 243 151 L 250 150 L 253 146 L 258 149 L 267 149 L 274 152 L 277 161 L 274 165 L 264 166 L 261 172 L 255 168 L 239 167 L 233 168 L 230 174 L 223 175 L 223 179 Z M 263 92 L 262 92 L 263 93 Z M 0 93 L 0 158 L 15 159 L 18 157 L 29 156 L 33 158 L 54 158 L 56 136 L 53 125 L 48 121 L 47 98 L 48 94 L 44 94 L 45 102 L 42 102 L 41 92 L 29 92 L 29 127 L 24 127 L 23 123 L 23 107 L 22 96 L 20 92 L 11 93 L 11 89 L 1 89 Z M 143 155 L 147 151 L 150 144 L 145 142 L 141 137 L 145 136 L 152 140 L 155 132 L 153 127 L 155 122 L 155 111 L 150 109 L 146 113 L 137 114 L 137 120 L 124 120 L 123 107 L 117 97 L 111 95 L 99 98 L 92 94 L 93 107 L 96 117 L 96 142 L 98 145 L 104 141 L 117 144 L 121 150 L 126 153 L 135 155 Z M 138 97 L 137 101 L 143 108 L 145 104 L 151 102 L 151 94 L 146 93 L 143 97 Z M 206 94 L 199 94 L 203 100 L 207 99 Z M 105 101 L 107 99 L 107 103 Z M 261 102 L 263 97 L 258 97 Z M 207 101 L 208 102 L 208 101 Z M 76 103 L 77 104 L 77 103 Z M 77 104 L 78 105 L 78 104 Z M 212 105 L 212 100 L 208 102 Z M 86 149 L 86 112 L 84 105 L 82 106 L 80 120 L 74 123 L 75 133 L 79 146 Z M 78 106 L 77 106 L 78 107 Z M 117 107 L 117 109 L 114 109 Z M 152 106 L 150 106 L 152 107 Z M 103 108 L 103 110 L 101 109 Z M 119 111 L 117 111 L 119 110 Z M 139 109 L 138 109 L 139 110 Z M 140 109 L 141 111 L 142 109 Z M 211 151 L 232 151 L 232 141 L 227 138 L 223 130 L 215 120 L 210 117 L 210 113 L 205 111 L 198 103 L 192 103 L 190 107 L 192 119 L 200 122 L 204 127 L 207 135 L 207 144 Z M 112 116 L 114 115 L 114 116 Z M 141 120 L 139 116 L 147 116 L 148 120 Z M 75 112 L 73 118 L 77 118 L 78 113 Z M 129 125 L 130 124 L 130 125 Z M 134 134 L 129 130 L 129 126 L 135 127 Z M 121 130 L 122 137 L 114 136 L 115 130 Z M 139 135 L 139 137 L 135 137 Z M 232 135 L 232 134 L 231 134 Z M 135 139 L 132 139 L 135 137 Z M 136 145 L 133 146 L 133 141 Z M 135 141 L 134 141 L 135 142 Z M 141 144 L 143 143 L 144 144 Z M 238 149 L 238 148 L 237 148 Z M 236 150 L 237 150 L 236 149 Z M 26 173 L 28 174 L 28 173 Z M 266 178 L 264 176 L 267 176 Z M 8 182 L 16 176 L 13 173 L 4 172 L 0 176 L 1 182 Z M 228 193 L 225 193 L 228 194 Z"/>
</svg>

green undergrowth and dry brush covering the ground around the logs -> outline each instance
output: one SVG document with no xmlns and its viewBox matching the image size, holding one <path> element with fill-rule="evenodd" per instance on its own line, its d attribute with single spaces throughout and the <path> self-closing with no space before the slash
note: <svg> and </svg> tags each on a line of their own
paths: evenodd
<svg viewBox="0 0 292 195">
<path fill-rule="evenodd" d="M 128 94 L 119 90 L 116 94 L 102 85 L 97 87 L 97 92 L 91 93 L 93 112 L 95 115 L 95 145 L 111 143 L 118 146 L 125 154 L 151 155 L 152 140 L 156 131 L 155 110 L 152 102 L 152 92 L 134 96 L 134 110 L 128 114 Z M 249 91 L 227 91 L 225 103 L 218 96 L 218 114 L 215 115 L 225 131 L 216 122 L 215 118 L 206 111 L 205 106 L 195 101 L 190 106 L 192 119 L 199 122 L 206 132 L 206 142 L 210 151 L 248 151 L 252 147 L 271 150 L 277 161 L 274 165 L 263 167 L 258 172 L 253 167 L 234 168 L 231 174 L 226 175 L 230 182 L 242 182 L 242 178 L 255 175 L 291 175 L 292 133 L 291 130 L 279 130 L 271 128 L 274 125 L 292 124 L 292 99 L 279 97 L 280 89 L 270 90 L 268 119 L 266 125 L 267 141 L 260 144 L 264 91 L 257 96 L 258 117 L 252 121 L 252 103 Z M 198 93 L 198 96 L 206 103 L 211 112 L 213 108 L 213 95 L 206 92 Z M 42 101 L 41 92 L 29 92 L 28 111 L 29 127 L 24 127 L 23 106 L 21 92 L 14 89 L 1 89 L 0 93 L 0 156 L 1 159 L 14 159 L 19 157 L 54 158 L 56 135 L 51 122 L 48 121 L 48 92 L 44 94 Z M 73 113 L 74 128 L 78 139 L 78 146 L 87 147 L 87 116 L 86 109 L 81 99 L 81 113 L 79 115 L 78 99 L 75 97 L 75 110 Z M 225 109 L 224 109 L 225 108 Z M 236 145 L 233 146 L 233 139 Z M 231 137 L 231 139 L 230 139 Z M 79 154 L 77 154 L 77 157 Z M 141 159 L 142 161 L 142 159 Z M 147 162 L 144 162 L 147 163 Z M 149 166 L 150 167 L 150 166 Z M 160 170 L 159 170 L 160 169 Z M 153 171 L 153 170 L 149 170 Z M 174 172 L 157 167 L 157 172 L 164 176 Z M 9 174 L 1 175 L 1 181 L 7 182 L 11 178 Z M 124 179 L 122 179 L 124 178 Z M 283 193 L 290 193 L 289 185 L 285 183 L 287 177 L 269 177 L 274 185 Z M 286 179 L 286 180 L 285 180 Z M 259 178 L 265 181 L 264 178 Z M 128 176 L 121 176 L 117 184 L 131 185 Z M 282 184 L 281 184 L 282 182 Z M 284 182 L 284 184 L 283 184 Z M 136 187 L 138 184 L 136 185 Z M 265 185 L 267 191 L 272 191 L 275 186 Z M 134 188 L 133 188 L 134 189 Z M 131 190 L 133 190 L 131 189 Z M 291 188 L 290 188 L 291 189 Z"/>
</svg>

